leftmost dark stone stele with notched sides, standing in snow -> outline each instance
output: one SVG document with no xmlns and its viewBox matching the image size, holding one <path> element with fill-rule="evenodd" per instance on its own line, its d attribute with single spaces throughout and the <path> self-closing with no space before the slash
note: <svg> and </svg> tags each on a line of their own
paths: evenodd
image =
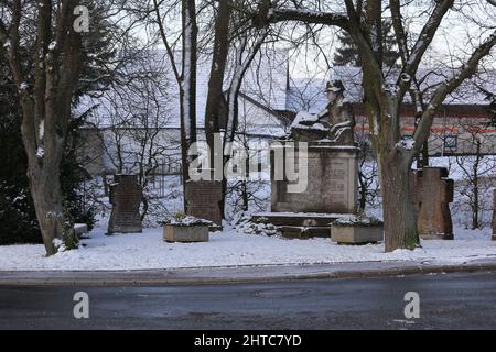
<svg viewBox="0 0 496 352">
<path fill-rule="evenodd" d="M 108 223 L 108 233 L 141 232 L 140 204 L 141 186 L 136 175 L 115 175 L 110 185 L 112 212 Z"/>
</svg>

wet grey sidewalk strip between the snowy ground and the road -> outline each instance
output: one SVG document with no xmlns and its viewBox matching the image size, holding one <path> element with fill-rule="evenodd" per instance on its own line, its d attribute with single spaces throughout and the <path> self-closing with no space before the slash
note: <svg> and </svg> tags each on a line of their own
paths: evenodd
<svg viewBox="0 0 496 352">
<path fill-rule="evenodd" d="M 474 260 L 463 264 L 411 261 L 149 271 L 0 272 L 0 286 L 161 286 L 479 272 L 496 273 L 496 258 Z"/>
</svg>

